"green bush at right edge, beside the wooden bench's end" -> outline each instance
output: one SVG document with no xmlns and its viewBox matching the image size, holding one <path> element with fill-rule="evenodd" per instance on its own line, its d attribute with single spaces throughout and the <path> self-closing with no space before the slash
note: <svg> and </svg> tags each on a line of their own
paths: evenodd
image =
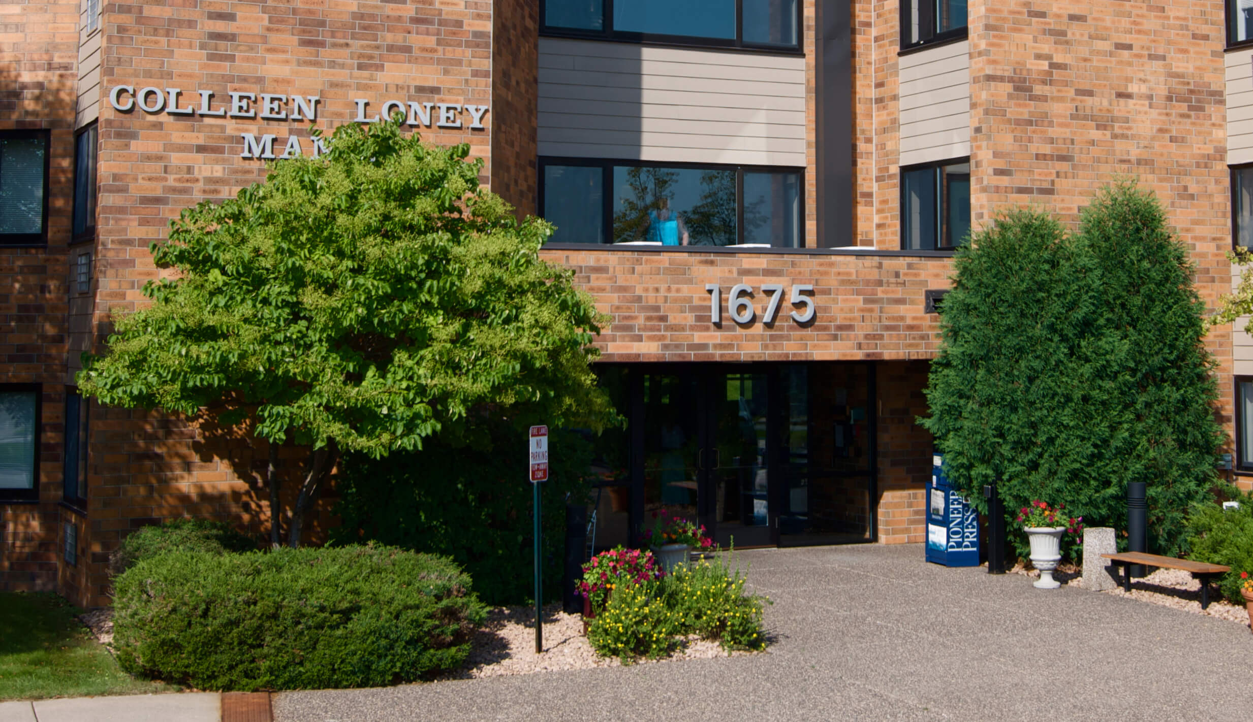
<svg viewBox="0 0 1253 722">
<path fill-rule="evenodd" d="M 1223 574 L 1223 596 L 1243 604 L 1240 572 L 1253 573 L 1253 494 L 1237 494 L 1238 509 L 1219 504 L 1197 504 L 1188 518 L 1189 558 L 1232 568 Z"/>
</svg>

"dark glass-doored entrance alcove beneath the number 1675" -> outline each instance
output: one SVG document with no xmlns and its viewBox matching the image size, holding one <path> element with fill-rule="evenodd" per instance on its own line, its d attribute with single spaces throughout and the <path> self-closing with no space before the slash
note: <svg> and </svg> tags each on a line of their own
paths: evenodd
<svg viewBox="0 0 1253 722">
<path fill-rule="evenodd" d="M 870 363 L 598 364 L 628 427 L 595 440 L 598 548 L 654 514 L 727 547 L 875 538 Z"/>
</svg>

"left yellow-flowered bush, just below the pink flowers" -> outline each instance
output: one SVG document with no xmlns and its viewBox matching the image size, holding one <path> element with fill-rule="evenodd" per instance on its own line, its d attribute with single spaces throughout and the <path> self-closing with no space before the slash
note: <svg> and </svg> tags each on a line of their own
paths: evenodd
<svg viewBox="0 0 1253 722">
<path fill-rule="evenodd" d="M 668 609 L 657 582 L 618 584 L 605 608 L 588 626 L 588 642 L 604 657 L 664 657 L 680 633 L 679 617 Z"/>
</svg>

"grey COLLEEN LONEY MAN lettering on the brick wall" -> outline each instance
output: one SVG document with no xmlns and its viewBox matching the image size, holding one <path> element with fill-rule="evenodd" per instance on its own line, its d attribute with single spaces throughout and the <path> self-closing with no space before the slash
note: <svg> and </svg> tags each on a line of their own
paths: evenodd
<svg viewBox="0 0 1253 722">
<path fill-rule="evenodd" d="M 317 120 L 317 95 L 279 95 L 272 93 L 227 93 L 229 100 L 216 101 L 212 90 L 190 90 L 188 98 L 179 88 L 140 88 L 114 85 L 109 90 L 109 105 L 119 113 L 142 110 L 149 115 L 202 115 L 205 118 L 256 118 L 258 120 Z M 194 98 L 198 96 L 198 98 Z M 371 114 L 370 101 L 363 98 L 352 100 L 356 105 L 353 123 L 378 123 L 380 118 L 391 118 L 396 113 L 405 115 L 405 123 L 413 126 L 451 128 L 484 130 L 484 115 L 487 105 L 467 105 L 459 103 L 413 103 L 411 100 L 386 100 L 377 113 Z M 282 150 L 274 154 L 277 136 L 242 133 L 243 153 L 241 158 L 292 158 L 302 155 L 304 149 L 301 139 L 291 135 L 282 141 Z M 326 153 L 326 139 L 306 139 L 311 141 L 313 156 Z"/>
</svg>

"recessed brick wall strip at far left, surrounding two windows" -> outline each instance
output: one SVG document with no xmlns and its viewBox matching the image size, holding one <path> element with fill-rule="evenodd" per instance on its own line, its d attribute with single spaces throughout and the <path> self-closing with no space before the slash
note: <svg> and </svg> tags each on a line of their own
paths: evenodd
<svg viewBox="0 0 1253 722">
<path fill-rule="evenodd" d="M 43 384 L 39 503 L 0 503 L 0 591 L 53 589 L 63 514 L 66 254 L 73 203 L 78 3 L 0 6 L 0 130 L 51 130 L 48 247 L 0 247 L 0 388 Z"/>
</svg>

